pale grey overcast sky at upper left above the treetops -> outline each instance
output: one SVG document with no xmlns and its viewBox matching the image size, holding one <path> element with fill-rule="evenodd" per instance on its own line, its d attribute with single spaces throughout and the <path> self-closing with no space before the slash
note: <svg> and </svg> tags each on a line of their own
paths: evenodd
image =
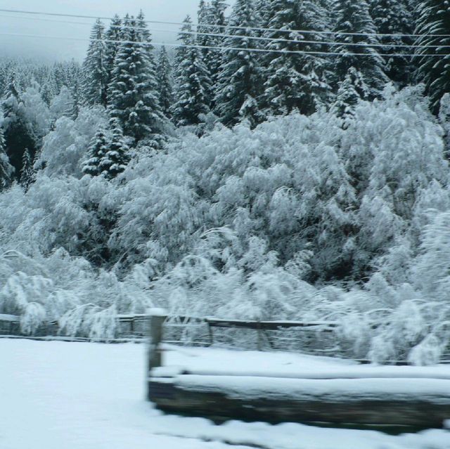
<svg viewBox="0 0 450 449">
<path fill-rule="evenodd" d="M 199 0 L 1 0 L 0 8 L 45 13 L 65 13 L 112 17 L 115 13 L 136 15 L 139 10 L 147 20 L 181 22 L 187 14 L 196 19 Z M 231 3 L 232 0 L 229 2 Z M 65 21 L 61 23 L 58 21 Z M 71 22 L 71 23 L 68 23 Z M 82 22 L 82 23 L 72 23 Z M 87 42 L 63 40 L 64 37 L 89 38 L 94 20 L 57 18 L 0 12 L 0 55 L 46 58 L 47 60 L 82 60 Z M 108 23 L 108 21 L 105 21 Z M 177 26 L 148 25 L 156 42 L 176 41 Z M 163 30 L 170 30 L 165 32 Z M 1 33 L 33 34 L 38 37 L 5 36 Z M 55 39 L 55 38 L 60 39 Z"/>
</svg>

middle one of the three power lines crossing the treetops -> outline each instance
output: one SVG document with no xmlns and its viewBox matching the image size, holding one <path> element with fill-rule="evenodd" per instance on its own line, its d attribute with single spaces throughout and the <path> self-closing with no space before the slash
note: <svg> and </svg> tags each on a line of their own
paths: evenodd
<svg viewBox="0 0 450 449">
<path fill-rule="evenodd" d="M 1 11 L 1 10 L 0 10 Z M 34 18 L 34 17 L 23 17 L 20 15 L 4 15 L 0 14 L 0 17 L 5 18 L 15 18 L 15 19 L 24 19 L 24 20 L 39 20 L 43 22 L 52 22 L 52 23 L 67 23 L 72 25 L 86 25 L 92 26 L 91 22 L 74 22 L 70 20 L 51 20 L 44 18 Z M 352 47 L 375 47 L 375 48 L 387 48 L 387 47 L 395 47 L 395 48 L 450 48 L 450 45 L 420 45 L 420 44 L 366 44 L 364 42 L 356 42 L 354 44 L 349 44 L 348 42 L 334 42 L 334 41 L 309 41 L 304 39 L 278 39 L 276 37 L 255 37 L 255 36 L 245 36 L 245 35 L 234 35 L 234 34 L 221 34 L 221 33 L 207 33 L 207 32 L 196 32 L 196 31 L 179 31 L 179 30 L 162 30 L 155 28 L 143 28 L 143 27 L 132 27 L 129 25 L 110 25 L 113 28 L 120 28 L 125 30 L 147 30 L 149 32 L 165 32 L 165 33 L 179 33 L 179 34 L 189 34 L 193 36 L 207 36 L 207 37 L 225 37 L 225 38 L 233 38 L 233 39 L 250 39 L 256 41 L 268 41 L 273 43 L 285 42 L 289 44 L 318 44 L 318 45 L 327 45 L 327 46 L 352 46 Z"/>
</svg>

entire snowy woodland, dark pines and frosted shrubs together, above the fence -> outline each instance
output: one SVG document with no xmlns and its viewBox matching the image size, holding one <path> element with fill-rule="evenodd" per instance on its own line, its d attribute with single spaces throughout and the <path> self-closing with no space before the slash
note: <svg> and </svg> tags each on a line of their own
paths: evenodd
<svg viewBox="0 0 450 449">
<path fill-rule="evenodd" d="M 350 356 L 450 341 L 450 9 L 200 1 L 174 48 L 97 20 L 82 63 L 0 58 L 0 313 L 333 320 Z"/>
</svg>

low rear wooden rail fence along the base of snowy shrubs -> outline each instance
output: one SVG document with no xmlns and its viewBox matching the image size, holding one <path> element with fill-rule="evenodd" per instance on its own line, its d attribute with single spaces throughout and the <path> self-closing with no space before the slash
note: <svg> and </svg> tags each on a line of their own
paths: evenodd
<svg viewBox="0 0 450 449">
<path fill-rule="evenodd" d="M 66 335 L 60 332 L 57 321 L 43 323 L 32 335 L 20 331 L 20 317 L 0 314 L 0 337 L 32 338 L 60 341 L 95 341 L 108 343 L 148 340 L 150 315 L 117 315 L 113 338 L 89 335 Z M 163 321 L 162 342 L 186 346 L 226 346 L 242 349 L 270 349 L 295 351 L 320 356 L 356 358 L 366 362 L 364 353 L 359 357 L 352 352 L 352 342 L 345 343 L 336 338 L 339 324 L 335 321 L 258 321 L 200 318 L 188 315 L 168 315 Z M 375 327 L 375 326 L 374 326 Z M 442 363 L 450 363 L 450 352 L 442 356 Z M 392 360 L 392 363 L 402 363 Z"/>
</svg>

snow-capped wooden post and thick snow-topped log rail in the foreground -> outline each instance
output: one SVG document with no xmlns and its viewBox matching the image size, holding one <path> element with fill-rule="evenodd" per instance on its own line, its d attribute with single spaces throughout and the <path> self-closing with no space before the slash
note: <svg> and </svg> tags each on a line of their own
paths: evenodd
<svg viewBox="0 0 450 449">
<path fill-rule="evenodd" d="M 404 429 L 441 427 L 450 413 L 450 376 L 446 379 L 367 379 L 361 374 L 317 373 L 316 376 L 261 375 L 217 367 L 201 372 L 189 367 L 163 367 L 165 327 L 163 311 L 150 315 L 147 397 L 164 412 L 207 417 L 216 422 L 229 419 L 279 422 L 326 422 L 352 426 L 392 426 Z M 280 328 L 333 330 L 337 323 L 257 322 L 205 320 L 217 327 L 250 329 L 261 333 Z M 259 339 L 258 339 L 259 340 Z M 376 376 L 374 376 L 376 377 Z M 397 382 L 398 391 L 390 386 Z M 441 382 L 442 392 L 432 385 Z M 231 386 L 230 386 L 231 385 Z M 255 386 L 256 385 L 256 386 Z M 374 386 L 375 385 L 375 386 Z M 405 385 L 410 385 L 405 389 Z M 431 389 L 429 389 L 431 385 Z M 417 391 L 414 391 L 416 386 Z M 374 392 L 374 388 L 378 389 Z M 408 393 L 405 393 L 408 391 Z"/>
</svg>

